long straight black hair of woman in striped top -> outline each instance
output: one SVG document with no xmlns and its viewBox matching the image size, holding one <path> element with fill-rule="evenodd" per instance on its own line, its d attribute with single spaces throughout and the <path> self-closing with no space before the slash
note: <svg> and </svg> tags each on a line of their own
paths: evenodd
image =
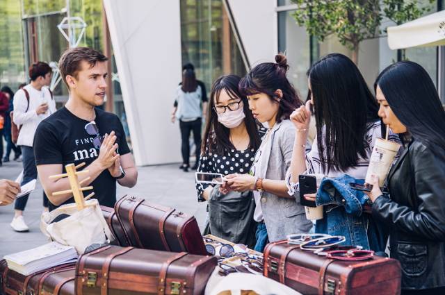
<svg viewBox="0 0 445 295">
<path fill-rule="evenodd" d="M 333 53 L 307 71 L 323 170 L 346 171 L 366 158 L 369 123 L 377 121 L 378 103 L 348 57 Z M 309 94 L 311 95 L 311 94 Z M 325 129 L 323 128 L 325 126 Z"/>
</svg>

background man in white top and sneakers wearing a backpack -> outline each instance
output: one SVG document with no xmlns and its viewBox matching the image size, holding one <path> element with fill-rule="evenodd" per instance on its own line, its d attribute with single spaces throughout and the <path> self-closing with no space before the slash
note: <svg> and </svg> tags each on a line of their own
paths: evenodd
<svg viewBox="0 0 445 295">
<path fill-rule="evenodd" d="M 35 130 L 43 119 L 56 112 L 56 102 L 48 88 L 51 83 L 51 74 L 52 69 L 46 62 L 36 62 L 29 67 L 31 83 L 14 95 L 13 121 L 19 127 L 17 146 L 22 149 L 23 180 L 21 185 L 37 178 L 33 151 Z M 29 194 L 15 200 L 15 215 L 10 226 L 18 232 L 29 230 L 23 217 L 28 196 Z M 47 210 L 46 196 L 43 198 L 43 205 Z"/>
</svg>

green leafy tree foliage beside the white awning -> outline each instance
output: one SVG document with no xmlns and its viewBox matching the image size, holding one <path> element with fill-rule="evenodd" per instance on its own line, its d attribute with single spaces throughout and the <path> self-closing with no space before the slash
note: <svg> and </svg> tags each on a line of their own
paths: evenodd
<svg viewBox="0 0 445 295">
<path fill-rule="evenodd" d="M 336 35 L 341 44 L 353 51 L 353 61 L 356 64 L 360 42 L 378 37 L 382 33 L 382 19 L 387 17 L 396 24 L 401 24 L 430 10 L 428 4 L 415 0 L 292 1 L 298 6 L 293 17 L 299 26 L 305 26 L 307 32 L 320 41 L 328 35 Z"/>
</svg>

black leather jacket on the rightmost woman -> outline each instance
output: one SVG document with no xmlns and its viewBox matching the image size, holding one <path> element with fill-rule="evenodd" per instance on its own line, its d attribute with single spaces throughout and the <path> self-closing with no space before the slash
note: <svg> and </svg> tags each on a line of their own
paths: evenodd
<svg viewBox="0 0 445 295">
<path fill-rule="evenodd" d="M 401 262 L 402 289 L 445 286 L 444 179 L 444 149 L 414 140 L 389 171 L 391 198 L 373 203 L 373 217 L 389 228 L 391 258 Z"/>
</svg>

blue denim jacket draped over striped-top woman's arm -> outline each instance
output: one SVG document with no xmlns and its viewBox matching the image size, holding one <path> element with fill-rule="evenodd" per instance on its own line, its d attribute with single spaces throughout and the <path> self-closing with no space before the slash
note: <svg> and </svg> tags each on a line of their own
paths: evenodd
<svg viewBox="0 0 445 295">
<path fill-rule="evenodd" d="M 315 232 L 343 235 L 345 245 L 362 246 L 375 252 L 384 252 L 387 233 L 373 221 L 371 214 L 363 214 L 368 196 L 350 188 L 349 183 L 363 184 L 347 174 L 324 178 L 317 191 L 316 204 L 325 206 L 324 217 L 316 221 Z"/>
</svg>

